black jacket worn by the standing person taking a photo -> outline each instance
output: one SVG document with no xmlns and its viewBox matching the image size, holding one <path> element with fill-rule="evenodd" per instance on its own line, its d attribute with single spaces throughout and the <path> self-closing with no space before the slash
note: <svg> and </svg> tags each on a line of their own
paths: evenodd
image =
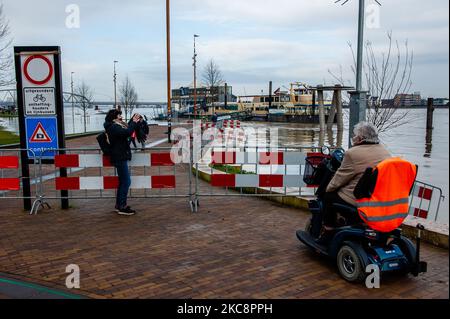
<svg viewBox="0 0 450 319">
<path fill-rule="evenodd" d="M 114 122 L 105 122 L 103 126 L 111 145 L 111 163 L 131 161 L 130 137 L 136 123 L 132 122 L 127 129 Z"/>
</svg>

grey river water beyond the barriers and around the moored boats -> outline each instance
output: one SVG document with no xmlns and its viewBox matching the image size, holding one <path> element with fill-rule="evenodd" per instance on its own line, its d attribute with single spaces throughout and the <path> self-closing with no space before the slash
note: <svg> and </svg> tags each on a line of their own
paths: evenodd
<svg viewBox="0 0 450 319">
<path fill-rule="evenodd" d="M 87 119 L 87 131 L 99 131 L 103 129 L 105 115 L 96 114 L 89 110 Z M 141 108 L 136 112 L 145 114 L 149 120 L 154 118 L 160 109 Z M 418 180 L 442 188 L 445 200 L 441 205 L 438 220 L 442 223 L 449 222 L 449 110 L 438 109 L 434 116 L 434 130 L 430 143 L 426 136 L 426 110 L 414 109 L 404 112 L 407 124 L 389 130 L 381 134 L 381 141 L 395 156 L 401 156 L 419 166 Z M 66 134 L 80 133 L 84 131 L 83 117 L 75 114 L 75 127 L 72 123 L 70 109 L 66 109 L 65 129 Z M 150 121 L 151 122 L 151 121 Z M 345 114 L 345 131 L 338 139 L 336 130 L 325 134 L 325 144 L 329 146 L 342 145 L 348 147 L 348 115 Z M 0 118 L 0 125 L 9 131 L 18 132 L 17 118 Z M 297 123 L 262 123 L 247 122 L 244 127 L 266 129 L 278 128 L 281 146 L 318 146 L 320 130 L 318 125 Z M 429 138 L 429 137 L 428 137 Z M 434 213 L 430 212 L 434 219 Z"/>
</svg>

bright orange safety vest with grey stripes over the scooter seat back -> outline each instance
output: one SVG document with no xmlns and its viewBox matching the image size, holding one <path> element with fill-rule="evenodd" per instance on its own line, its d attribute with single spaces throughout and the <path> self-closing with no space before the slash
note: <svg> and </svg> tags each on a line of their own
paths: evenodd
<svg viewBox="0 0 450 319">
<path fill-rule="evenodd" d="M 375 189 L 370 198 L 357 200 L 359 216 L 373 230 L 389 233 L 403 224 L 409 213 L 409 195 L 417 167 L 395 157 L 377 165 Z"/>
</svg>

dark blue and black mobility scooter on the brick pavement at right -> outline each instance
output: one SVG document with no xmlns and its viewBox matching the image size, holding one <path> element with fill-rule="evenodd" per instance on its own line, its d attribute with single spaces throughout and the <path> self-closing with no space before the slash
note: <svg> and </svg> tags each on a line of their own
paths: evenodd
<svg viewBox="0 0 450 319">
<path fill-rule="evenodd" d="M 297 238 L 320 255 L 336 260 L 340 275 L 349 282 L 363 282 L 369 275 L 367 266 L 376 265 L 380 275 L 385 273 L 411 273 L 418 276 L 427 271 L 427 263 L 420 261 L 420 234 L 418 225 L 416 246 L 402 236 L 401 229 L 382 233 L 370 229 L 359 219 L 357 208 L 335 204 L 336 228 L 321 238 L 323 195 L 334 173 L 340 167 L 345 151 L 336 149 L 330 154 L 327 147 L 321 156 L 306 160 L 304 181 L 318 186 L 316 200 L 309 202 L 311 220 L 305 230 L 297 231 Z"/>
</svg>

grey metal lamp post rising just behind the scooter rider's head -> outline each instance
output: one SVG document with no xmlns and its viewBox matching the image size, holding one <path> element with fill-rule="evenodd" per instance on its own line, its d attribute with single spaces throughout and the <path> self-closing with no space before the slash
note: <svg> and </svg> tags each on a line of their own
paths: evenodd
<svg viewBox="0 0 450 319">
<path fill-rule="evenodd" d="M 335 3 L 341 2 L 337 0 Z M 343 1 L 342 5 L 345 5 L 350 0 Z M 378 0 L 375 2 L 381 6 Z M 365 23 L 365 9 L 366 1 L 359 0 L 358 10 L 358 52 L 356 58 L 356 91 L 350 93 L 350 123 L 349 123 L 349 142 L 348 146 L 351 146 L 353 137 L 353 128 L 356 124 L 366 120 L 367 110 L 367 91 L 362 90 L 362 68 L 363 68 L 363 56 L 364 56 L 364 23 Z"/>
</svg>

